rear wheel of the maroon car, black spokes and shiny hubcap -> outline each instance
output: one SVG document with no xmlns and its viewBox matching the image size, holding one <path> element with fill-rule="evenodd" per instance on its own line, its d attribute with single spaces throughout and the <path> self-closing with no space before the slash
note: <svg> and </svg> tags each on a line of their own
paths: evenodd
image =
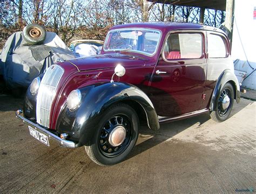
<svg viewBox="0 0 256 194">
<path fill-rule="evenodd" d="M 226 83 L 217 96 L 217 109 L 210 113 L 213 120 L 222 122 L 226 120 L 231 113 L 234 103 L 234 89 L 230 83 Z"/>
</svg>

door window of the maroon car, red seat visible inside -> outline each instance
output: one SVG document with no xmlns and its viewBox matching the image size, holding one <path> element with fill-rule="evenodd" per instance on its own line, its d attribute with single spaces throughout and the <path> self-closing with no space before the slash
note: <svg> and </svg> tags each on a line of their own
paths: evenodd
<svg viewBox="0 0 256 194">
<path fill-rule="evenodd" d="M 203 54 L 203 36 L 200 33 L 170 34 L 164 48 L 165 59 L 199 59 Z"/>
</svg>

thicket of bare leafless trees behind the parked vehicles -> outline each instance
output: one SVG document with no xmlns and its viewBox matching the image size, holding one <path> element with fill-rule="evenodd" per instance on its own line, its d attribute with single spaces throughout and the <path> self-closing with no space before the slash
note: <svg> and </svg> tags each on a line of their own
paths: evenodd
<svg viewBox="0 0 256 194">
<path fill-rule="evenodd" d="M 199 8 L 158 3 L 157 0 L 2 0 L 0 29 L 9 35 L 37 23 L 56 32 L 65 42 L 72 39 L 104 39 L 113 25 L 140 21 L 199 23 Z M 205 10 L 205 24 L 220 26 L 224 11 Z M 2 35 L 4 37 L 5 35 Z M 1 34 L 0 34 L 1 37 Z M 7 37 L 6 37 L 7 38 Z M 1 46 L 0 46 L 1 47 Z"/>
</svg>

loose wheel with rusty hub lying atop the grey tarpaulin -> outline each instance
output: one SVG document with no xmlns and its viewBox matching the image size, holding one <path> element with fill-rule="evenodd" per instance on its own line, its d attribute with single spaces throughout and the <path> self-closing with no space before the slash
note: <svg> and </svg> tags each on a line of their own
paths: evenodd
<svg viewBox="0 0 256 194">
<path fill-rule="evenodd" d="M 38 24 L 30 24 L 23 28 L 23 38 L 29 45 L 42 44 L 46 37 L 44 27 Z"/>
</svg>

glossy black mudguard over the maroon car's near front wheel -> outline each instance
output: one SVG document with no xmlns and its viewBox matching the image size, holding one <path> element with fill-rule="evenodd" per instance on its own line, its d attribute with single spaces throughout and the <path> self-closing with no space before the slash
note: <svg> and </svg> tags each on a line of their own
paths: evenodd
<svg viewBox="0 0 256 194">
<path fill-rule="evenodd" d="M 147 123 L 152 130 L 159 129 L 159 120 L 149 97 L 134 85 L 127 83 L 100 83 L 79 89 L 82 103 L 75 111 L 66 104 L 59 114 L 56 130 L 70 134 L 70 139 L 79 142 L 79 146 L 90 143 L 92 135 L 105 111 L 115 103 L 132 100 L 142 106 Z"/>
</svg>

